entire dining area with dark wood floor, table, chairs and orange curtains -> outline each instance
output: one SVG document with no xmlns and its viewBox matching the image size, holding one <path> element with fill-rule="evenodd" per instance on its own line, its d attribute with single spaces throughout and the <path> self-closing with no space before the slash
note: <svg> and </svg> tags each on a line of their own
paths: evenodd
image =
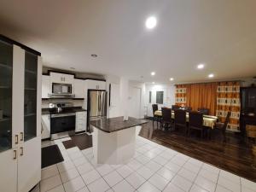
<svg viewBox="0 0 256 192">
<path fill-rule="evenodd" d="M 254 181 L 255 88 L 237 81 L 162 87 L 148 89 L 139 136 Z"/>
</svg>

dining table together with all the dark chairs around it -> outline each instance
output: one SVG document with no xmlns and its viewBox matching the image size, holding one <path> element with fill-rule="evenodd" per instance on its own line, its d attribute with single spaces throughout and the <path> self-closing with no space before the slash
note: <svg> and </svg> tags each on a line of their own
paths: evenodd
<svg viewBox="0 0 256 192">
<path fill-rule="evenodd" d="M 183 136 L 190 137 L 191 132 L 198 132 L 201 138 L 211 139 L 212 131 L 218 130 L 223 142 L 226 141 L 225 132 L 230 120 L 230 112 L 227 113 L 224 123 L 219 122 L 218 117 L 209 114 L 209 109 L 198 108 L 192 110 L 190 107 L 172 105 L 172 108 L 159 108 L 152 104 L 154 113 L 153 126 L 163 131 L 181 131 Z M 197 134 L 198 135 L 198 134 Z"/>
</svg>

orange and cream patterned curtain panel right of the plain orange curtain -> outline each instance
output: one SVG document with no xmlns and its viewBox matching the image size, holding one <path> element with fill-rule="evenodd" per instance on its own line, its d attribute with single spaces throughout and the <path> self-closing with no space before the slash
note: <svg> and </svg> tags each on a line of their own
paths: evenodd
<svg viewBox="0 0 256 192">
<path fill-rule="evenodd" d="M 227 129 L 230 131 L 240 131 L 240 83 L 220 82 L 217 90 L 217 111 L 216 116 L 220 122 L 224 122 L 227 113 L 230 111 L 230 123 Z"/>
</svg>

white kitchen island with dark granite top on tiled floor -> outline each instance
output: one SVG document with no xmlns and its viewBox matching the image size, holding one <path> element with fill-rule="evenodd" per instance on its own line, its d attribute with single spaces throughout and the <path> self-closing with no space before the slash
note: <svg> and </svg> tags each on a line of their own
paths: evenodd
<svg viewBox="0 0 256 192">
<path fill-rule="evenodd" d="M 136 127 L 146 120 L 129 117 L 90 121 L 93 127 L 93 154 L 98 164 L 120 164 L 135 154 Z"/>
</svg>

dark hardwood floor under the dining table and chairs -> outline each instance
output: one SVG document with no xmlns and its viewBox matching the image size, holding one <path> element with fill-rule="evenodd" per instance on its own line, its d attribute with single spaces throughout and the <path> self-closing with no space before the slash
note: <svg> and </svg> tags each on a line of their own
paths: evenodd
<svg viewBox="0 0 256 192">
<path fill-rule="evenodd" d="M 223 143 L 218 135 L 210 140 L 201 139 L 196 132 L 184 137 L 182 131 L 156 130 L 156 123 L 153 127 L 152 121 L 148 121 L 140 131 L 141 137 L 256 182 L 256 154 L 253 155 L 250 144 L 241 142 L 235 134 L 228 135 Z"/>
</svg>

